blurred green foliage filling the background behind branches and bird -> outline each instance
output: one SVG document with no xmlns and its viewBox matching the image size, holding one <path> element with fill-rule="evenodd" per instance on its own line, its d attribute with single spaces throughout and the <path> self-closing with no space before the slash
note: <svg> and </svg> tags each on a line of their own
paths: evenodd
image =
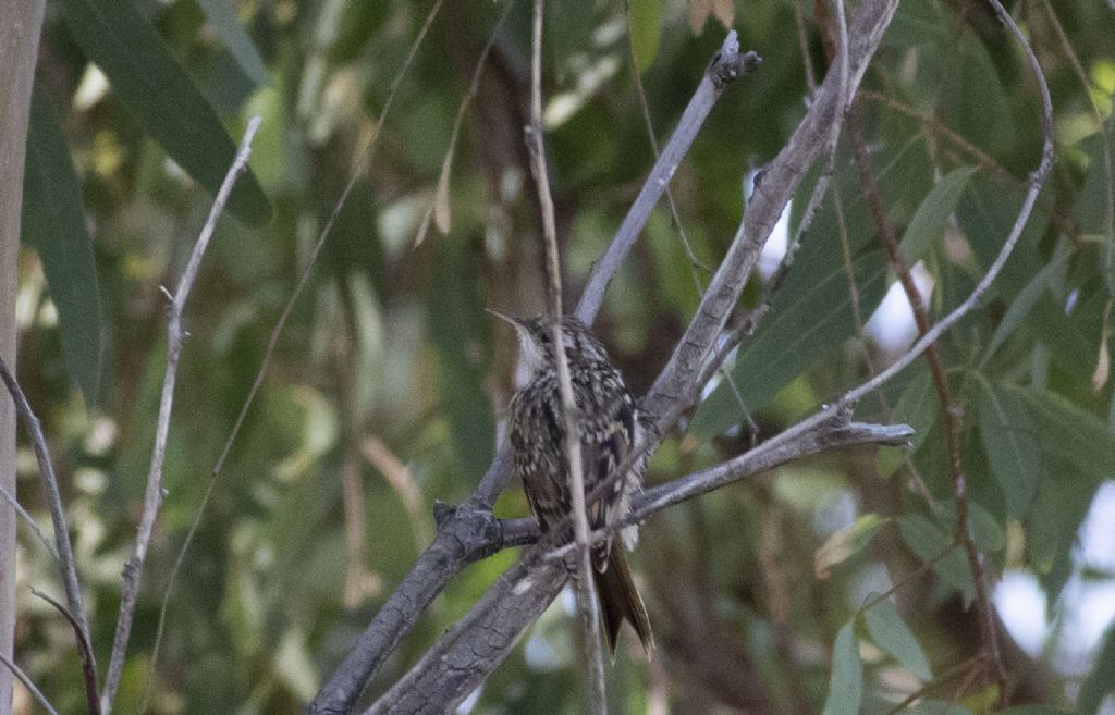
<svg viewBox="0 0 1115 715">
<path fill-rule="evenodd" d="M 498 30 L 453 165 L 443 167 L 505 1 L 445 3 L 382 125 L 428 2 L 48 3 L 16 306 L 19 378 L 58 462 L 101 664 L 165 364 L 159 286 L 175 283 L 248 117 L 264 120 L 252 173 L 187 308 L 167 496 L 117 712 L 144 702 L 166 715 L 300 712 L 426 545 L 434 500 L 463 499 L 483 473 L 516 349 L 483 308 L 530 314 L 544 303 L 522 140 L 529 3 Z M 807 67 L 823 77 L 820 4 L 547 3 L 547 141 L 566 304 L 653 161 L 637 80 L 661 140 L 724 22 L 734 18 L 743 46 L 764 58 L 720 100 L 672 183 L 701 265 L 690 266 L 663 203 L 597 323 L 637 391 L 697 304 L 694 276 L 707 283 L 730 242 L 745 179 L 803 116 Z M 1005 633 L 1011 699 L 1048 714 L 1075 708 L 1079 692 L 1079 712 L 1092 715 L 1115 667 L 1112 630 L 1079 636 L 1069 626 L 1092 603 L 1082 594 L 1109 592 L 1115 578 L 1109 555 L 1089 556 L 1078 538 L 1115 474 L 1115 11 L 1092 0 L 1012 4 L 1049 80 L 1058 161 L 1004 273 L 940 350 L 976 541 L 992 576 L 1036 579 L 1051 618 L 1028 652 Z M 1040 150 L 1036 85 L 983 3 L 906 0 L 864 89 L 881 198 L 904 254 L 931 278 L 937 319 L 967 296 L 1017 215 Z M 359 166 L 375 133 L 375 159 Z M 355 169 L 172 584 L 272 326 Z M 792 232 L 818 170 L 788 212 Z M 759 439 L 894 355 L 864 329 L 894 276 L 843 143 L 835 170 L 836 190 L 730 368 Z M 443 174 L 450 231 L 430 229 L 415 247 Z M 748 305 L 760 287 L 748 287 Z M 668 435 L 650 481 L 747 448 L 740 402 L 715 382 L 686 432 Z M 993 709 L 989 680 L 952 670 L 978 650 L 979 630 L 964 610 L 967 562 L 949 552 L 954 486 L 924 363 L 864 401 L 859 417 L 914 425 L 912 449 L 788 466 L 647 525 L 636 562 L 660 645 L 649 665 L 621 648 L 609 668 L 612 713 L 888 713 L 923 684 L 927 699 L 911 711 Z M 21 500 L 45 523 L 26 442 L 20 454 Z M 497 512 L 526 512 L 517 487 Z M 21 582 L 60 590 L 22 526 L 20 539 Z M 455 579 L 371 689 L 394 682 L 513 558 L 497 555 Z M 919 568 L 924 561 L 931 567 Z M 892 586 L 893 603 L 880 601 Z M 61 713 L 84 712 L 68 627 L 28 589 L 19 598 L 20 662 Z M 559 599 L 469 701 L 473 712 L 583 712 L 571 613 Z"/>
</svg>

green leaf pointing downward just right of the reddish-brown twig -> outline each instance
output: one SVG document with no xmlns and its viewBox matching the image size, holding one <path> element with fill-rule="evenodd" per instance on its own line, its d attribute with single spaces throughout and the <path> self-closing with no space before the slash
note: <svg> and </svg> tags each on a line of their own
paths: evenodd
<svg viewBox="0 0 1115 715">
<path fill-rule="evenodd" d="M 1007 499 L 1007 513 L 1029 510 L 1040 474 L 1038 433 L 1022 399 L 997 383 L 980 381 L 979 429 L 991 476 Z"/>
</svg>

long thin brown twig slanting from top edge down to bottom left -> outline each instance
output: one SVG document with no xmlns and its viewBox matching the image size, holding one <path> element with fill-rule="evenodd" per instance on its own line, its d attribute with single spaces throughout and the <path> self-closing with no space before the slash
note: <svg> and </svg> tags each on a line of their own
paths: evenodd
<svg viewBox="0 0 1115 715">
<path fill-rule="evenodd" d="M 360 176 L 370 167 L 371 159 L 375 156 L 375 148 L 378 146 L 378 139 L 382 134 L 384 123 L 387 119 L 387 115 L 395 104 L 395 97 L 398 94 L 399 86 L 403 84 L 403 78 L 407 75 L 410 66 L 414 63 L 415 57 L 418 55 L 418 47 L 421 45 L 423 39 L 426 37 L 426 32 L 429 30 L 430 25 L 434 22 L 434 18 L 437 17 L 438 11 L 442 9 L 442 4 L 445 0 L 436 0 L 434 6 L 430 8 L 429 12 L 426 14 L 426 19 L 423 22 L 421 28 L 418 30 L 418 36 L 415 38 L 414 43 L 410 46 L 410 51 L 407 53 L 406 60 L 403 62 L 403 67 L 399 69 L 399 74 L 396 75 L 395 79 L 391 81 L 391 86 L 387 91 L 387 98 L 384 100 L 384 109 L 379 112 L 379 119 L 376 121 L 376 130 L 367 139 L 363 147 L 360 149 L 356 164 L 352 168 L 352 174 L 349 176 L 348 184 L 345 186 L 345 190 L 341 192 L 340 197 L 337 199 L 337 204 L 333 207 L 332 213 L 329 215 L 329 221 L 321 228 L 321 233 L 318 235 L 317 242 L 313 244 L 313 248 L 310 251 L 310 255 L 307 259 L 306 266 L 302 268 L 302 273 L 298 278 L 298 283 L 294 285 L 294 290 L 291 292 L 290 297 L 287 300 L 287 304 L 283 306 L 282 313 L 279 315 L 279 320 L 275 322 L 274 327 L 271 330 L 271 335 L 268 339 L 266 349 L 263 352 L 263 360 L 260 362 L 260 368 L 255 372 L 255 379 L 252 381 L 252 386 L 248 391 L 248 396 L 244 398 L 244 403 L 240 408 L 240 413 L 236 415 L 236 421 L 232 425 L 232 431 L 229 433 L 229 439 L 224 443 L 224 448 L 221 450 L 221 456 L 217 458 L 216 462 L 213 464 L 213 470 L 210 473 L 209 482 L 205 484 L 205 493 L 202 496 L 201 505 L 197 507 L 197 513 L 194 516 L 194 520 L 190 525 L 190 530 L 186 532 L 186 539 L 182 543 L 182 549 L 178 551 L 178 556 L 174 561 L 174 566 L 171 569 L 171 575 L 167 579 L 166 590 L 163 592 L 163 603 L 159 606 L 158 615 L 158 627 L 156 629 L 155 646 L 152 649 L 152 673 L 155 672 L 156 657 L 158 655 L 158 646 L 162 641 L 163 626 L 166 620 L 166 609 L 169 604 L 171 592 L 174 587 L 174 581 L 177 578 L 178 571 L 182 568 L 182 564 L 185 560 L 186 551 L 188 551 L 191 543 L 193 543 L 194 536 L 197 533 L 197 528 L 201 526 L 202 517 L 205 515 L 205 508 L 209 506 L 210 498 L 213 494 L 213 488 L 216 486 L 217 479 L 221 477 L 221 472 L 224 469 L 224 463 L 229 459 L 229 454 L 232 452 L 232 448 L 236 442 L 236 438 L 240 435 L 240 430 L 244 425 L 244 421 L 248 418 L 248 411 L 251 409 L 252 404 L 255 402 L 255 395 L 259 393 L 260 388 L 263 385 L 263 378 L 268 373 L 268 369 L 271 366 L 271 360 L 274 358 L 275 347 L 279 345 L 279 337 L 282 335 L 283 329 L 287 326 L 287 321 L 290 320 L 291 313 L 294 311 L 294 303 L 298 301 L 299 296 L 302 294 L 302 290 L 310 282 L 310 277 L 313 275 L 313 266 L 317 262 L 318 255 L 321 253 L 322 246 L 324 246 L 326 241 L 332 233 L 333 225 L 337 223 L 340 216 L 341 209 L 348 202 L 349 195 L 352 193 L 352 188 L 356 186 L 357 180 Z"/>
</svg>

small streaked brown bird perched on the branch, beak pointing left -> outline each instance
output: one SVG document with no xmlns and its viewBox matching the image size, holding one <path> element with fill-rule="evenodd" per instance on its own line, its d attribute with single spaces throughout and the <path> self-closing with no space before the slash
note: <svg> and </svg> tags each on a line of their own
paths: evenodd
<svg viewBox="0 0 1115 715">
<path fill-rule="evenodd" d="M 569 516 L 569 468 L 565 457 L 565 420 L 553 350 L 553 322 L 550 319 L 520 319 L 493 314 L 515 326 L 522 355 L 531 376 L 511 401 L 511 444 L 515 472 L 523 480 L 526 500 L 543 531 Z M 572 315 L 561 319 L 562 342 L 569 365 L 585 493 L 609 479 L 636 448 L 639 421 L 634 399 L 623 376 L 608 359 L 604 346 L 589 329 Z M 627 516 L 631 494 L 642 488 L 646 460 L 639 460 L 622 479 L 594 503 L 588 506 L 589 528 L 602 529 Z M 633 527 L 622 532 L 628 548 L 634 546 Z M 634 628 L 643 649 L 653 648 L 647 608 L 631 580 L 622 547 L 612 548 L 612 539 L 592 547 L 597 598 L 604 635 L 612 653 L 620 626 L 627 620 Z"/>
</svg>

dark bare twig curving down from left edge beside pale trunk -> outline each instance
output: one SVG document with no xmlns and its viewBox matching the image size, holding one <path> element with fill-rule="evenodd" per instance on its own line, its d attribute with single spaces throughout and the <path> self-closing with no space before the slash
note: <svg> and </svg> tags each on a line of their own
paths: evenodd
<svg viewBox="0 0 1115 715">
<path fill-rule="evenodd" d="M 62 497 L 58 490 L 58 477 L 55 476 L 55 464 L 50 459 L 50 450 L 47 448 L 47 438 L 42 434 L 42 425 L 36 417 L 31 404 L 27 401 L 22 388 L 16 381 L 16 375 L 11 374 L 8 365 L 0 359 L 0 379 L 3 379 L 8 392 L 11 393 L 12 402 L 16 404 L 16 412 L 23 420 L 27 433 L 31 437 L 35 445 L 35 457 L 39 462 L 39 477 L 42 481 L 42 491 L 50 508 L 50 521 L 55 528 L 55 554 L 58 557 L 58 569 L 61 571 L 62 588 L 66 591 L 66 603 L 74 618 L 80 626 L 81 635 L 86 641 L 89 640 L 89 620 L 85 615 L 85 605 L 81 603 L 81 587 L 77 580 L 77 565 L 74 562 L 74 549 L 70 546 L 69 526 L 66 523 L 66 509 L 62 507 Z M 33 522 L 32 522 L 33 523 Z M 97 664 L 93 660 L 93 652 L 89 652 L 89 667 L 97 672 Z"/>
</svg>

